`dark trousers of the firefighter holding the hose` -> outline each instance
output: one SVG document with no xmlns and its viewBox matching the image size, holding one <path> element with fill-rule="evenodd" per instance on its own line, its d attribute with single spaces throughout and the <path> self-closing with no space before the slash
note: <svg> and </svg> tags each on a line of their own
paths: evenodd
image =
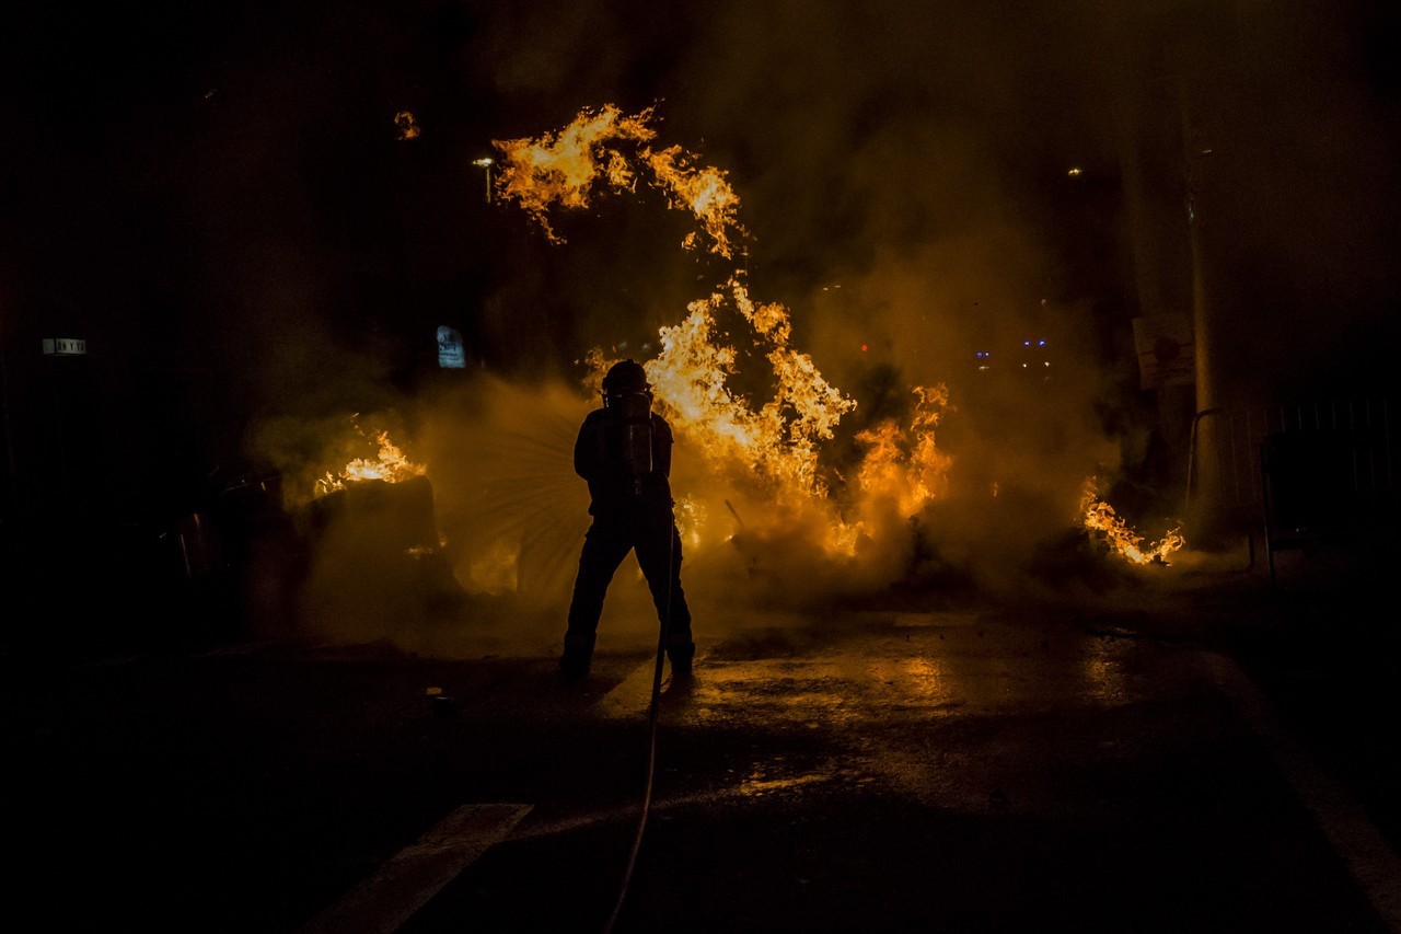
<svg viewBox="0 0 1401 934">
<path fill-rule="evenodd" d="M 689 665 L 695 655 L 691 609 L 681 589 L 681 534 L 670 509 L 622 509 L 594 516 L 579 555 L 574 596 L 565 632 L 566 668 L 588 668 L 604 611 L 604 597 L 614 574 L 629 551 L 647 581 L 657 617 L 665 628 L 665 649 L 672 665 Z"/>
</svg>

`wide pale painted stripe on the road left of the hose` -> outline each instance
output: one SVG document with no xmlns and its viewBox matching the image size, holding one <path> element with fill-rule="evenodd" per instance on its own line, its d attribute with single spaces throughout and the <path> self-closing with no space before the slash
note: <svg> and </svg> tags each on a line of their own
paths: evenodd
<svg viewBox="0 0 1401 934">
<path fill-rule="evenodd" d="M 462 805 L 301 934 L 392 934 L 488 847 L 510 834 L 530 809 L 523 804 Z"/>
</svg>

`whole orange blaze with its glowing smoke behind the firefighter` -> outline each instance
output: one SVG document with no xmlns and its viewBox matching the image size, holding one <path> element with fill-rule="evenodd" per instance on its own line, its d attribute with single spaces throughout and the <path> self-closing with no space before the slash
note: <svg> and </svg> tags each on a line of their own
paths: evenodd
<svg viewBox="0 0 1401 934">
<path fill-rule="evenodd" d="M 677 230 L 664 215 L 685 220 L 674 251 L 696 265 L 695 295 L 661 311 L 670 323 L 650 341 L 580 348 L 555 367 L 573 380 L 467 370 L 433 398 L 315 429 L 265 429 L 269 450 L 279 438 L 303 446 L 296 463 L 290 449 L 277 459 L 289 499 L 312 501 L 311 513 L 317 498 L 343 496 L 360 480 L 416 481 L 430 499 L 422 515 L 434 529 L 381 547 L 378 560 L 328 522 L 303 595 L 314 631 L 426 652 L 553 651 L 588 524 L 574 435 L 602 374 L 626 356 L 643 363 L 675 432 L 682 576 L 699 632 L 743 627 L 755 610 L 1083 600 L 1131 568 L 1168 565 L 1184 544 L 1178 529 L 1139 534 L 1103 496 L 1122 440 L 1098 428 L 1096 367 L 1051 351 L 1087 344 L 1066 324 L 1072 316 L 1055 327 L 1006 311 L 964 320 L 957 306 L 978 271 L 964 268 L 964 245 L 933 244 L 842 271 L 804 303 L 815 320 L 800 321 L 751 289 L 744 258 L 758 245 L 727 171 L 667 143 L 660 123 L 656 107 L 604 104 L 567 126 L 493 143 L 493 196 L 551 250 L 569 251 L 565 222 L 587 233 L 590 209 L 608 199 L 643 202 L 658 236 Z M 1006 250 L 1030 250 L 1016 231 L 1005 236 Z M 612 265 L 598 275 L 615 275 Z M 993 307 L 1016 307 L 998 300 L 1014 285 L 978 285 Z M 992 338 L 1023 332 L 1013 367 L 958 369 L 950 349 L 978 337 L 1005 346 Z M 308 456 L 307 440 L 325 436 L 336 440 Z M 399 546 L 409 567 L 385 575 L 385 555 L 405 561 Z M 385 593 L 387 576 L 410 586 Z M 629 558 L 604 631 L 642 647 L 654 627 Z"/>
</svg>

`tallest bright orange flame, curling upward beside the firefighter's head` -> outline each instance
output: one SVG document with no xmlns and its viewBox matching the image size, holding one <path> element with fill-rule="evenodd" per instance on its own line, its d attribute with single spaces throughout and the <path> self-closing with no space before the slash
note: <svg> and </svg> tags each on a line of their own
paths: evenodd
<svg viewBox="0 0 1401 934">
<path fill-rule="evenodd" d="M 738 196 L 724 172 L 698 165 L 679 146 L 656 150 L 650 128 L 654 108 L 625 116 L 616 107 L 584 109 L 559 133 L 537 140 L 497 140 L 502 170 L 497 194 L 516 201 L 556 243 L 549 226 L 552 206 L 583 208 L 600 178 L 612 191 L 630 189 L 637 174 L 667 192 L 672 208 L 689 210 L 699 223 L 684 245 L 703 234 L 709 251 L 733 258 L 747 236 L 738 223 Z M 657 401 L 678 432 L 715 466 L 751 471 L 766 492 L 783 501 L 827 494 L 817 471 L 817 446 L 832 438 L 842 415 L 856 401 L 831 386 L 813 358 L 790 345 L 787 309 L 757 303 L 741 272 L 709 297 L 686 306 L 686 317 L 660 330 L 661 353 L 644 363 Z M 737 353 L 719 342 L 716 316 L 737 313 L 752 328 L 772 369 L 773 397 L 758 407 L 731 391 Z M 595 376 L 612 360 L 590 355 Z"/>
</svg>

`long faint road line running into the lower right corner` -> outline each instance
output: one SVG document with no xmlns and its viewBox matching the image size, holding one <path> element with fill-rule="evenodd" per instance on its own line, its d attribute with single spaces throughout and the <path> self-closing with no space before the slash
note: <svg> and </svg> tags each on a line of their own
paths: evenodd
<svg viewBox="0 0 1401 934">
<path fill-rule="evenodd" d="M 1387 926 L 1401 934 L 1401 857 L 1348 794 L 1332 781 L 1279 722 L 1271 703 L 1231 659 L 1210 654 L 1208 668 L 1236 701 L 1299 799 Z"/>
</svg>

